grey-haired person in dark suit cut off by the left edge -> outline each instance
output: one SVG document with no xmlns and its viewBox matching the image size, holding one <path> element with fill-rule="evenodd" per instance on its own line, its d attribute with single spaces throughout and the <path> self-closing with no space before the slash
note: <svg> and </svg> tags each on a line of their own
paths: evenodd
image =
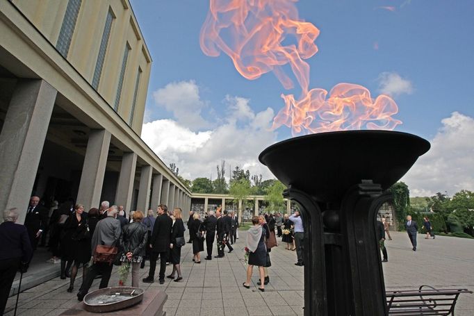
<svg viewBox="0 0 474 316">
<path fill-rule="evenodd" d="M 0 315 L 3 315 L 5 310 L 8 294 L 20 263 L 28 263 L 33 253 L 28 231 L 25 226 L 15 224 L 17 219 L 16 208 L 3 211 L 5 222 L 0 224 Z"/>
</svg>

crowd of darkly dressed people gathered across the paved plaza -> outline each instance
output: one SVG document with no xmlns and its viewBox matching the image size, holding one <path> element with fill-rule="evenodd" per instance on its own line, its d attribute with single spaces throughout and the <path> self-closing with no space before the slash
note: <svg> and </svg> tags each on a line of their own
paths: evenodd
<svg viewBox="0 0 474 316">
<path fill-rule="evenodd" d="M 14 225 L 18 218 L 18 210 L 6 210 L 3 214 L 0 239 L 4 246 L 0 251 L 0 312 L 5 306 L 8 293 L 13 283 L 15 273 L 21 267 L 28 269 L 38 244 L 46 245 L 51 251 L 50 263 L 60 263 L 60 278 L 70 278 L 67 292 L 74 290 L 74 282 L 82 268 L 82 283 L 77 293 L 79 301 L 88 293 L 92 282 L 97 276 L 101 277 L 99 288 L 106 288 L 111 278 L 115 264 L 128 263 L 131 266 L 131 285 L 138 287 L 140 268 L 145 267 L 149 260 L 149 272 L 144 283 L 154 283 L 156 264 L 160 259 L 158 282 L 163 284 L 165 276 L 175 282 L 183 280 L 181 274 L 181 247 L 186 244 L 181 208 L 167 210 L 160 204 L 156 210 L 147 210 L 145 216 L 140 210 L 131 211 L 126 217 L 123 206 L 110 206 L 103 201 L 99 208 L 90 208 L 85 212 L 81 203 L 74 204 L 72 200 L 52 203 L 54 209 L 44 208 L 40 198 L 33 196 L 28 204 L 23 225 Z M 434 238 L 430 220 L 425 217 L 424 228 L 426 238 Z M 193 261 L 201 263 L 201 252 L 206 244 L 205 260 L 223 258 L 225 248 L 231 253 L 232 244 L 238 239 L 238 217 L 234 212 L 217 208 L 206 213 L 204 219 L 199 213 L 190 212 L 187 228 L 192 244 Z M 409 235 L 413 250 L 416 251 L 416 231 L 418 226 L 411 217 L 407 217 L 405 228 Z M 276 231 L 276 233 L 275 233 Z M 389 233 L 389 224 L 382 218 L 377 222 L 377 240 L 383 255 L 383 262 L 388 261 L 384 247 L 385 235 Z M 47 238 L 48 236 L 48 238 Z M 252 226 L 246 235 L 247 279 L 243 283 L 250 288 L 253 267 L 258 267 L 259 290 L 264 291 L 270 282 L 268 267 L 271 266 L 270 252 L 277 246 L 277 237 L 286 244 L 285 249 L 296 251 L 295 265 L 304 265 L 304 226 L 299 211 L 293 215 L 265 214 L 252 217 Z M 213 256 L 214 242 L 218 253 Z M 98 253 L 101 247 L 117 247 L 115 259 L 100 260 L 103 253 Z M 13 249 L 12 251 L 5 249 Z M 167 265 L 172 265 L 172 272 L 166 275 Z M 1 314 L 1 313 L 0 313 Z"/>
</svg>

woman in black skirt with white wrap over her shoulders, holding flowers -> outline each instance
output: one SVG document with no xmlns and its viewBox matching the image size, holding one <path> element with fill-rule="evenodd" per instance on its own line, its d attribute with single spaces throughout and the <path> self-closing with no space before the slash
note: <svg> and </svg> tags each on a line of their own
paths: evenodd
<svg viewBox="0 0 474 316">
<path fill-rule="evenodd" d="M 247 281 L 243 283 L 244 288 L 250 288 L 250 282 L 252 278 L 252 271 L 254 265 L 259 267 L 260 272 L 260 281 L 261 287 L 259 290 L 265 292 L 265 271 L 263 266 L 267 262 L 267 249 L 265 247 L 264 238 L 265 234 L 263 233 L 262 226 L 259 225 L 259 217 L 252 217 L 252 224 L 254 226 L 250 227 L 247 231 L 247 248 L 249 249 L 249 260 L 247 266 Z"/>
</svg>

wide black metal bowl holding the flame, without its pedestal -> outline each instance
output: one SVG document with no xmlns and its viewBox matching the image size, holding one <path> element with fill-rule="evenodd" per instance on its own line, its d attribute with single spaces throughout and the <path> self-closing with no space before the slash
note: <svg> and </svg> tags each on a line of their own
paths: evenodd
<svg viewBox="0 0 474 316">
<path fill-rule="evenodd" d="M 386 190 L 398 181 L 430 142 L 394 131 L 337 131 L 291 138 L 261 152 L 275 176 L 317 201 L 339 201 L 362 180 Z"/>
</svg>

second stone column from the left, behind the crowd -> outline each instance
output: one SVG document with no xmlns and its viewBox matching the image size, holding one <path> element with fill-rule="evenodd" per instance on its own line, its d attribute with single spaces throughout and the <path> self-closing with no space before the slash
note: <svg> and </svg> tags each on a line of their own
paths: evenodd
<svg viewBox="0 0 474 316">
<path fill-rule="evenodd" d="M 86 210 L 99 207 L 110 144 L 111 133 L 109 131 L 105 129 L 90 131 L 88 147 L 85 149 L 81 182 L 77 192 L 77 202 L 84 204 Z"/>
</svg>

